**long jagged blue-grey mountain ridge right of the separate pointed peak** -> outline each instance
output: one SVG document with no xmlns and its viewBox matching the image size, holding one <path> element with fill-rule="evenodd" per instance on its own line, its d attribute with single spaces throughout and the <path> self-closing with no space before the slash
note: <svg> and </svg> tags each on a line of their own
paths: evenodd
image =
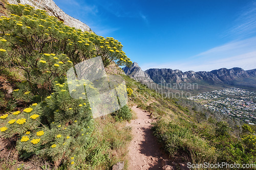
<svg viewBox="0 0 256 170">
<path fill-rule="evenodd" d="M 205 81 L 210 84 L 236 85 L 245 79 L 255 79 L 256 69 L 243 70 L 234 67 L 231 69 L 221 68 L 212 71 L 186 71 L 173 70 L 166 68 L 151 68 L 145 71 L 155 83 L 182 83 Z M 243 85 L 246 85 L 243 82 Z"/>
</svg>

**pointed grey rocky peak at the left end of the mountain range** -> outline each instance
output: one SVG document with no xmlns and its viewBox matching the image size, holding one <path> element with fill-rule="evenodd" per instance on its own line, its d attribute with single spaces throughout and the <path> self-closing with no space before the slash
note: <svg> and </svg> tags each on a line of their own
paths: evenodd
<svg viewBox="0 0 256 170">
<path fill-rule="evenodd" d="M 148 74 L 146 74 L 138 65 L 138 63 L 134 62 L 131 68 L 124 67 L 122 68 L 127 76 L 130 76 L 132 79 L 137 80 L 141 83 L 152 82 L 153 80 L 150 78 Z"/>
</svg>

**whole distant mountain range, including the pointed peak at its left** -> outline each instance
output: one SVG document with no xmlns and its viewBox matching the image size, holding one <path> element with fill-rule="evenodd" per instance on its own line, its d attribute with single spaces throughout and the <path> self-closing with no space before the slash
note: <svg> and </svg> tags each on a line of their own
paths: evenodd
<svg viewBox="0 0 256 170">
<path fill-rule="evenodd" d="M 151 68 L 141 70 L 137 63 L 131 68 L 123 68 L 126 75 L 143 83 L 154 81 L 157 84 L 167 83 L 199 83 L 217 86 L 236 86 L 241 88 L 256 89 L 256 69 L 244 70 L 234 67 L 231 69 L 220 68 L 212 71 L 186 71 L 169 68 Z"/>
</svg>

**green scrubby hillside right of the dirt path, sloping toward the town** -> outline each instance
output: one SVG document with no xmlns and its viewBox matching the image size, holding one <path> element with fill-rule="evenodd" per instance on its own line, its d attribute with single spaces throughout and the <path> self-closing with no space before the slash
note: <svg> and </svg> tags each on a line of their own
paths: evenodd
<svg viewBox="0 0 256 170">
<path fill-rule="evenodd" d="M 157 119 L 153 131 L 173 162 L 255 163 L 255 126 L 184 99 L 168 99 L 125 77 L 130 100 Z"/>
</svg>

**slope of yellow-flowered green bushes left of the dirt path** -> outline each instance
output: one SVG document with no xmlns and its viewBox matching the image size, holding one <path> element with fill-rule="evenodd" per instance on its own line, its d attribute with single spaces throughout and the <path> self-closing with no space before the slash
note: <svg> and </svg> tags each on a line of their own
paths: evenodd
<svg viewBox="0 0 256 170">
<path fill-rule="evenodd" d="M 131 133 L 123 120 L 132 118 L 130 109 L 125 105 L 93 119 L 95 104 L 82 96 L 86 87 L 98 94 L 96 85 L 66 77 L 76 63 L 96 56 L 105 67 L 131 65 L 121 43 L 66 26 L 29 5 L 5 8 L 8 16 L 0 19 L 1 168 L 108 169 L 125 160 Z M 71 93 L 79 99 L 71 98 L 68 83 L 76 84 Z M 81 86 L 84 92 L 77 93 Z"/>
</svg>

